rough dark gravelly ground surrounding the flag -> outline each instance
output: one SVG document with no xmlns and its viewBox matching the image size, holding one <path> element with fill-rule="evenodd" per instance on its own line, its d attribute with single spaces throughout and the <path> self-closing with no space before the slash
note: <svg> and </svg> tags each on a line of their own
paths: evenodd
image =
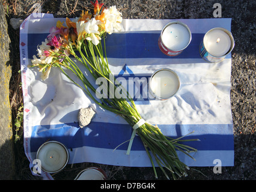
<svg viewBox="0 0 256 192">
<path fill-rule="evenodd" d="M 124 19 L 200 19 L 213 18 L 213 4 L 216 1 L 185 0 L 105 0 L 106 6 L 117 5 Z M 231 71 L 231 110 L 234 124 L 234 167 L 222 167 L 222 173 L 213 173 L 213 167 L 191 167 L 188 176 L 181 179 L 256 179 L 255 170 L 255 1 L 218 1 L 222 5 L 222 17 L 232 18 L 231 32 L 235 40 L 232 52 Z M 8 4 L 7 20 L 11 17 L 25 19 L 32 13 L 35 3 L 41 4 L 43 13 L 55 17 L 79 16 L 81 10 L 90 6 L 89 1 L 41 0 L 41 1 L 4 1 Z M 13 76 L 19 70 L 19 29 L 9 27 L 11 38 L 11 61 Z M 16 54 L 14 54 L 16 53 Z M 22 131 L 20 133 L 22 135 Z M 16 143 L 16 179 L 37 179 L 31 175 L 28 160 L 23 153 L 22 139 Z M 117 167 L 102 164 L 68 165 L 55 179 L 74 179 L 82 169 L 99 166 L 106 171 L 109 179 L 154 179 L 150 167 Z M 165 179 L 159 171 L 159 179 Z"/>
</svg>

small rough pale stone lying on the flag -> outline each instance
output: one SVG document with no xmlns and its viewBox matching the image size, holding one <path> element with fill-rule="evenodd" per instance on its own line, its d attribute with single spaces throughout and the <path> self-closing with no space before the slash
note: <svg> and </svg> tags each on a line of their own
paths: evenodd
<svg viewBox="0 0 256 192">
<path fill-rule="evenodd" d="M 91 119 L 94 118 L 95 114 L 96 112 L 94 112 L 93 108 L 91 107 L 81 108 L 78 113 L 79 126 L 83 128 L 90 124 Z"/>
</svg>

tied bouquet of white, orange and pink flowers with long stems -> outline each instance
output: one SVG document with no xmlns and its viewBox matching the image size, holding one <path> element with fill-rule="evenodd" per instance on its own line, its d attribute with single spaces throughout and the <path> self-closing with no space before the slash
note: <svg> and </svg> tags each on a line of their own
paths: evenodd
<svg viewBox="0 0 256 192">
<path fill-rule="evenodd" d="M 171 172 L 174 179 L 177 176 L 186 176 L 186 169 L 189 169 L 189 167 L 179 160 L 177 150 L 184 152 L 186 155 L 189 155 L 190 151 L 197 151 L 180 143 L 181 141 L 189 140 L 184 140 L 182 137 L 172 139 L 164 136 L 157 125 L 151 125 L 141 118 L 132 98 L 116 97 L 108 89 L 109 86 L 106 86 L 108 97 L 95 98 L 93 93 L 97 95 L 96 89 L 88 80 L 87 75 L 81 71 L 77 62 L 73 61 L 72 57 L 75 57 L 76 61 L 81 62 L 90 71 L 95 80 L 104 78 L 109 84 L 112 83 L 114 90 L 121 86 L 114 85 L 111 80 L 114 76 L 109 70 L 106 57 L 105 36 L 123 29 L 121 25 L 122 15 L 115 6 L 102 9 L 103 4 L 99 4 L 98 1 L 91 2 L 91 4 L 94 6 L 94 13 L 82 11 L 81 16 L 76 19 L 70 20 L 67 18 L 66 25 L 64 25 L 64 22 L 58 21 L 56 26 L 50 29 L 50 34 L 47 35 L 45 41 L 37 47 L 38 53 L 37 56 L 33 56 L 32 66 L 38 67 L 39 71 L 42 72 L 42 80 L 49 77 L 52 67 L 58 67 L 62 73 L 79 86 L 100 107 L 124 118 L 133 128 L 127 154 L 130 152 L 133 137 L 138 134 L 150 158 L 156 178 L 157 173 L 153 158 L 166 178 L 169 177 L 163 167 Z M 84 86 L 79 85 L 79 82 L 70 78 L 66 73 L 67 70 L 72 71 Z M 127 96 L 128 92 L 123 92 L 122 94 Z M 127 102 L 126 98 L 130 102 Z M 191 156 L 189 155 L 189 157 Z"/>
</svg>

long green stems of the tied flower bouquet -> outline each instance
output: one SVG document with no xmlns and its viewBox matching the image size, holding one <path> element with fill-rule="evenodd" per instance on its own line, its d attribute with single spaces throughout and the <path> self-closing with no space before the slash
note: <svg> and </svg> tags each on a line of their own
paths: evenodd
<svg viewBox="0 0 256 192">
<path fill-rule="evenodd" d="M 105 57 L 103 56 L 101 42 L 97 46 L 95 46 L 91 41 L 86 40 L 80 42 L 79 46 L 71 46 L 72 48 L 70 49 L 70 53 L 75 56 L 76 60 L 81 62 L 87 68 L 87 70 L 92 74 L 94 79 L 97 79 L 98 77 L 104 77 L 109 83 L 112 83 L 112 85 L 114 86 L 114 91 L 116 91 L 118 86 L 121 85 L 115 85 L 115 79 L 114 82 L 111 82 L 110 77 L 112 76 L 112 73 L 111 70 L 109 70 L 108 59 L 106 58 L 105 38 L 103 38 L 103 43 Z M 79 52 L 81 58 L 76 55 L 75 50 Z M 100 107 L 121 116 L 131 127 L 133 127 L 133 125 L 135 125 L 139 121 L 139 119 L 141 119 L 141 115 L 139 115 L 139 112 L 136 109 L 136 105 L 130 97 L 127 97 L 127 100 L 130 101 L 130 103 L 128 103 L 128 101 L 123 97 L 111 99 L 101 98 L 100 101 L 102 103 L 100 103 L 99 100 L 96 100 L 93 97 L 93 94 L 91 94 L 91 92 L 95 93 L 96 89 L 87 80 L 87 77 L 84 75 L 84 73 L 82 73 L 76 63 L 73 62 L 72 59 L 69 58 L 69 56 L 66 56 L 65 62 L 69 64 L 69 67 L 67 68 L 71 70 L 73 74 L 75 74 L 82 81 L 82 83 L 84 84 L 84 88 L 82 88 L 82 86 L 72 80 L 68 76 L 68 74 L 65 73 L 65 71 L 60 67 L 62 72 L 70 80 L 72 80 L 72 82 L 78 85 L 79 88 L 81 88 L 89 97 L 91 97 L 93 101 L 99 104 Z M 109 86 L 106 89 L 108 90 L 108 95 L 110 95 L 111 90 L 109 89 Z M 129 93 L 127 91 L 126 95 L 129 96 Z M 153 158 L 156 161 L 157 166 L 160 167 L 163 174 L 166 176 L 166 178 L 169 179 L 168 174 L 163 168 L 169 170 L 174 179 L 177 178 L 176 176 L 186 175 L 187 166 L 179 160 L 177 151 L 181 151 L 189 157 L 193 158 L 188 153 L 197 150 L 190 146 L 183 145 L 180 142 L 189 142 L 196 139 L 182 140 L 184 136 L 177 139 L 166 137 L 162 134 L 157 126 L 151 125 L 147 122 L 141 125 L 141 127 L 136 130 L 136 133 L 141 138 L 142 143 L 144 144 L 145 151 L 150 158 L 150 162 L 152 164 L 154 175 L 156 176 L 156 178 L 157 173 Z"/>
</svg>

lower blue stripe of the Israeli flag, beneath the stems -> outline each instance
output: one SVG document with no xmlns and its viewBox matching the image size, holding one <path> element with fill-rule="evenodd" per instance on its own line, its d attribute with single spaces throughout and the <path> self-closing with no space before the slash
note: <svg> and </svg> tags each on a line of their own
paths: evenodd
<svg viewBox="0 0 256 192">
<path fill-rule="evenodd" d="M 234 150 L 233 125 L 158 125 L 162 133 L 168 130 L 173 139 L 180 137 L 181 133 L 188 130 L 195 131 L 184 139 L 200 139 L 197 142 L 185 142 L 185 144 L 204 150 Z M 212 132 L 209 133 L 209 132 Z M 47 140 L 58 140 L 67 148 L 79 148 L 91 146 L 95 148 L 114 149 L 121 143 L 130 139 L 132 128 L 127 124 L 112 124 L 106 122 L 91 122 L 85 128 L 79 128 L 78 123 L 58 125 L 38 125 L 32 127 L 31 151 L 35 152 L 41 144 Z M 184 133 L 183 133 L 184 134 Z M 187 134 L 187 133 L 186 133 Z M 117 149 L 126 150 L 129 142 Z M 136 136 L 133 140 L 132 150 L 144 150 L 144 146 Z"/>
</svg>

